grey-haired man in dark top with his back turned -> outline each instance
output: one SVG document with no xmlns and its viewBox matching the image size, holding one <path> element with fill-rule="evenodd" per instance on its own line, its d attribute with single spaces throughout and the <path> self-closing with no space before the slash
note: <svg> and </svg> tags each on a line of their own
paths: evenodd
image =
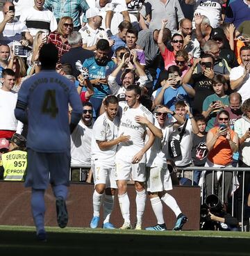
<svg viewBox="0 0 250 256">
<path fill-rule="evenodd" d="M 77 78 L 80 72 L 76 70 L 76 61 L 81 61 L 81 63 L 83 63 L 86 58 L 91 58 L 92 56 L 94 56 L 94 52 L 83 49 L 81 33 L 79 32 L 74 31 L 70 33 L 68 36 L 68 42 L 71 46 L 71 49 L 63 54 L 60 62 L 62 64 L 69 63 L 70 65 L 72 65 L 72 74 L 74 75 L 74 77 Z"/>
</svg>

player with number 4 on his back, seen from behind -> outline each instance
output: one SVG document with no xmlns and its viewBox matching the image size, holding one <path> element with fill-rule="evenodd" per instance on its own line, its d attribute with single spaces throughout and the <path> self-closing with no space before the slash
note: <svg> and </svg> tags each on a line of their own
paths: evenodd
<svg viewBox="0 0 250 256">
<path fill-rule="evenodd" d="M 68 221 L 67 186 L 69 186 L 70 133 L 83 106 L 74 84 L 56 72 L 58 49 L 46 44 L 40 49 L 41 72 L 22 83 L 15 115 L 28 123 L 28 169 L 25 186 L 31 186 L 31 208 L 37 237 L 46 241 L 44 229 L 44 192 L 49 182 L 56 197 L 59 227 Z M 72 114 L 69 123 L 70 104 Z"/>
</svg>

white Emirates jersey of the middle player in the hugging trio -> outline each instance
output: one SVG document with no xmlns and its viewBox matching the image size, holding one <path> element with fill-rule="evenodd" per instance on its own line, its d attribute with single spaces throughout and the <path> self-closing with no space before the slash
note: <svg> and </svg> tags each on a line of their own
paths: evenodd
<svg viewBox="0 0 250 256">
<path fill-rule="evenodd" d="M 142 147 L 144 147 L 144 132 L 146 131 L 146 125 L 141 125 L 138 122 L 135 122 L 135 115 L 145 116 L 150 122 L 153 122 L 152 113 L 142 106 L 142 104 L 140 104 L 137 109 L 130 108 L 127 104 L 122 107 L 119 135 L 129 135 L 131 136 L 131 139 L 130 141 L 119 143 L 117 148 L 117 155 L 119 155 L 119 157 L 123 154 L 133 157 L 142 149 Z"/>
</svg>

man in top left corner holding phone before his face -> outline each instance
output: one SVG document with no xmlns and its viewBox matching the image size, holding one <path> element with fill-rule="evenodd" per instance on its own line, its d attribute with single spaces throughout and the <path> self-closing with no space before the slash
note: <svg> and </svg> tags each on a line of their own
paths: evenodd
<svg viewBox="0 0 250 256">
<path fill-rule="evenodd" d="M 15 6 L 11 2 L 3 3 L 3 17 L 0 19 L 0 44 L 11 46 L 13 41 L 27 47 L 32 45 L 33 37 L 27 26 L 15 17 Z"/>
</svg>

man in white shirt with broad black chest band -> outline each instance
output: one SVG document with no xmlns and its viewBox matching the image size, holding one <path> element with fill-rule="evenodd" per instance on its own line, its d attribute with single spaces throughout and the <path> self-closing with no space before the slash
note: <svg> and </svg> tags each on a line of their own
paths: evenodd
<svg viewBox="0 0 250 256">
<path fill-rule="evenodd" d="M 19 21 L 26 24 L 28 31 L 34 37 L 38 31 L 44 31 L 49 35 L 57 29 L 56 17 L 44 8 L 45 0 L 34 0 L 35 6 L 22 10 Z"/>
</svg>

